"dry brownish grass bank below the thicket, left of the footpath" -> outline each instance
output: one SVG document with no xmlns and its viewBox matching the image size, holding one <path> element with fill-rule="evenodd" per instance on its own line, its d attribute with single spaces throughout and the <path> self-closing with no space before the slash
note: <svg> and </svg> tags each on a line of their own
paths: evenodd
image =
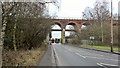
<svg viewBox="0 0 120 68">
<path fill-rule="evenodd" d="M 45 47 L 32 50 L 3 51 L 3 66 L 36 66 L 44 55 Z"/>
</svg>

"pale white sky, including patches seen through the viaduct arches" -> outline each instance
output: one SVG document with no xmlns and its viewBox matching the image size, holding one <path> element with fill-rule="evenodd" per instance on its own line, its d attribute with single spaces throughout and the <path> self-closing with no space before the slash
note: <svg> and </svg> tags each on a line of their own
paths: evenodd
<svg viewBox="0 0 120 68">
<path fill-rule="evenodd" d="M 61 6 L 59 9 L 53 4 L 49 4 L 49 14 L 51 16 L 57 15 L 58 18 L 81 19 L 84 9 L 86 7 L 93 8 L 95 1 L 96 0 L 61 0 Z M 119 1 L 120 0 L 113 0 L 113 13 L 118 13 Z M 111 0 L 108 0 L 108 2 L 111 2 Z M 59 26 L 53 28 L 59 28 Z M 66 32 L 65 35 L 68 36 L 69 32 Z M 61 38 L 61 32 L 52 32 L 52 37 Z"/>
</svg>

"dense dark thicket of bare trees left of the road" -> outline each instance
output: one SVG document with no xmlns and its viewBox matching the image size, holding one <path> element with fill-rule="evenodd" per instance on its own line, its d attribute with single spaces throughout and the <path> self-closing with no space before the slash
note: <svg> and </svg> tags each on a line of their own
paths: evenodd
<svg viewBox="0 0 120 68">
<path fill-rule="evenodd" d="M 46 15 L 45 3 L 2 3 L 5 47 L 16 50 L 20 47 L 28 46 L 31 49 L 46 39 L 46 35 L 50 30 L 50 21 Z M 41 40 L 39 41 L 39 39 Z"/>
</svg>

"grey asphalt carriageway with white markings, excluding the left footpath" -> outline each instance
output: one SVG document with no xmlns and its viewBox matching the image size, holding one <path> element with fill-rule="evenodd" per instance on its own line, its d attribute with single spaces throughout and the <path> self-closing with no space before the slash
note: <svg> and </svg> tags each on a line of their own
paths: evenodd
<svg viewBox="0 0 120 68">
<path fill-rule="evenodd" d="M 95 66 L 95 68 L 113 68 L 114 66 L 119 68 L 117 66 L 120 60 L 116 54 L 62 44 L 52 44 L 52 49 L 55 52 L 57 66 Z"/>
</svg>

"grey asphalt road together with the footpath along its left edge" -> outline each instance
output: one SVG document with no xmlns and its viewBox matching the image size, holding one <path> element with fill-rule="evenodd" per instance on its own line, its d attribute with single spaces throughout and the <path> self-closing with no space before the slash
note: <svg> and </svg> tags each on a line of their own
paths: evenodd
<svg viewBox="0 0 120 68">
<path fill-rule="evenodd" d="M 119 68 L 119 55 L 62 44 L 52 44 L 40 66 L 77 66 L 82 68 Z M 68 67 L 70 68 L 70 67 Z"/>
</svg>

